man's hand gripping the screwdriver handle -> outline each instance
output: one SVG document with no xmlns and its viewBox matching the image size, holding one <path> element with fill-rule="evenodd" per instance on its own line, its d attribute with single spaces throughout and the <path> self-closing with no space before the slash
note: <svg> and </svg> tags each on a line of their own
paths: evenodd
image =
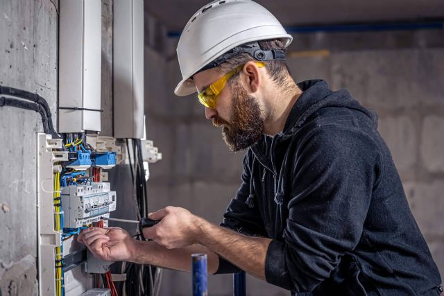
<svg viewBox="0 0 444 296">
<path fill-rule="evenodd" d="M 146 239 L 152 239 L 167 249 L 187 247 L 197 241 L 198 217 L 180 207 L 166 207 L 148 215 L 148 218 L 160 220 L 153 227 L 144 228 Z"/>
</svg>

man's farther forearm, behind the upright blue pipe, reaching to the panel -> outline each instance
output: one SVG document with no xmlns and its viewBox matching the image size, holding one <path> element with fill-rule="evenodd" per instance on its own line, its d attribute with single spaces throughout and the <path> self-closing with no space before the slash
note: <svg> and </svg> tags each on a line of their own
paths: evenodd
<svg viewBox="0 0 444 296">
<path fill-rule="evenodd" d="M 207 270 L 216 272 L 219 268 L 219 256 L 203 245 L 189 245 L 178 249 L 167 249 L 153 241 L 135 241 L 135 248 L 129 261 L 151 264 L 162 268 L 191 271 L 191 254 L 207 254 Z"/>
</svg>

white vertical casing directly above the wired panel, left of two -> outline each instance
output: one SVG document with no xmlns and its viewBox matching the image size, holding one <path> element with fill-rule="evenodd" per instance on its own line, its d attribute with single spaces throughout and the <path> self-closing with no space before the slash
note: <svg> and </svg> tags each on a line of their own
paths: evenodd
<svg viewBox="0 0 444 296">
<path fill-rule="evenodd" d="M 58 132 L 100 131 L 102 1 L 59 6 Z"/>
</svg>

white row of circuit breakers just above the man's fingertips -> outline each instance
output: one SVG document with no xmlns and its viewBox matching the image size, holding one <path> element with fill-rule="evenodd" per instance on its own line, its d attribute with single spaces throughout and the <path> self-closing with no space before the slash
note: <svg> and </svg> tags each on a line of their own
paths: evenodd
<svg viewBox="0 0 444 296">
<path fill-rule="evenodd" d="M 64 228 L 79 228 L 98 222 L 116 209 L 116 191 L 110 191 L 107 182 L 64 187 L 61 198 Z"/>
</svg>

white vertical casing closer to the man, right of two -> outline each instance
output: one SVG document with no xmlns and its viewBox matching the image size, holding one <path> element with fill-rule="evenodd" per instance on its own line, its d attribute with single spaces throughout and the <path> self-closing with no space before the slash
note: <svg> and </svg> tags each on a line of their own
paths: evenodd
<svg viewBox="0 0 444 296">
<path fill-rule="evenodd" d="M 144 1 L 113 3 L 114 137 L 144 136 Z"/>
</svg>

